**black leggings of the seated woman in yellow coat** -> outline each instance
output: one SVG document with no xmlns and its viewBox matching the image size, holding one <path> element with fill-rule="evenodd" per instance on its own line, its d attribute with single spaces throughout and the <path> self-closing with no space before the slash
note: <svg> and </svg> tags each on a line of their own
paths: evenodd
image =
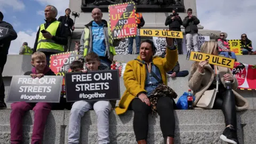
<svg viewBox="0 0 256 144">
<path fill-rule="evenodd" d="M 163 137 L 174 138 L 175 118 L 173 107 L 173 100 L 171 98 L 158 98 L 156 108 L 160 116 Z M 131 108 L 134 111 L 133 130 L 136 140 L 146 140 L 148 136 L 148 114 L 151 111 L 151 107 L 140 99 L 134 99 L 131 102 Z"/>
</svg>

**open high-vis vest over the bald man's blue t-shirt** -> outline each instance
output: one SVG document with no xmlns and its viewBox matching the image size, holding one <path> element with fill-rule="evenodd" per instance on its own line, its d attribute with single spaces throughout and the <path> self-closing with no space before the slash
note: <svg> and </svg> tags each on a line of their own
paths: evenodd
<svg viewBox="0 0 256 144">
<path fill-rule="evenodd" d="M 111 36 L 110 28 L 108 28 L 108 37 L 109 37 L 109 39 L 108 39 L 108 41 L 109 41 L 109 52 L 113 53 L 113 55 L 116 55 L 116 50 L 115 50 L 115 47 L 113 45 L 114 40 L 113 40 L 113 38 Z M 90 38 L 90 30 L 89 30 L 89 28 L 85 27 L 84 28 L 84 57 L 88 53 L 89 38 Z"/>
</svg>

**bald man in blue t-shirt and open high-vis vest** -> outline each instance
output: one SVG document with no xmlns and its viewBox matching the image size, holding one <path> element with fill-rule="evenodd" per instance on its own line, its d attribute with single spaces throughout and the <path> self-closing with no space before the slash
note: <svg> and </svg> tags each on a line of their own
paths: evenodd
<svg viewBox="0 0 256 144">
<path fill-rule="evenodd" d="M 113 57 L 116 54 L 115 46 L 119 45 L 121 39 L 112 39 L 109 34 L 108 22 L 102 20 L 102 12 L 99 8 L 92 10 L 93 21 L 85 25 L 80 39 L 79 60 L 95 52 L 100 57 L 100 70 L 110 69 Z"/>
</svg>

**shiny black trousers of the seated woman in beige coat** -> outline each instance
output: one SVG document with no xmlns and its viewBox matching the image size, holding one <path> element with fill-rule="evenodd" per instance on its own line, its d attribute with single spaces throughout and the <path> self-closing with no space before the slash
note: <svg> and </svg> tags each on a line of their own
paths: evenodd
<svg viewBox="0 0 256 144">
<path fill-rule="evenodd" d="M 226 126 L 233 125 L 236 129 L 236 101 L 232 90 L 219 90 L 216 95 L 213 109 L 221 109 L 225 117 Z"/>
</svg>

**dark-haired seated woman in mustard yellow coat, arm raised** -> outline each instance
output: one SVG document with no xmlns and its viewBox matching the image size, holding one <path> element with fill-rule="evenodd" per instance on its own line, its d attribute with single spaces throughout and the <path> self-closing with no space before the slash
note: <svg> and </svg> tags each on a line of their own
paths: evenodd
<svg viewBox="0 0 256 144">
<path fill-rule="evenodd" d="M 124 114 L 130 107 L 134 111 L 133 130 L 138 143 L 147 143 L 148 114 L 151 111 L 149 94 L 159 83 L 167 85 L 166 72 L 173 69 L 178 61 L 178 53 L 173 46 L 173 39 L 166 38 L 166 57 L 153 57 L 156 52 L 154 43 L 143 41 L 137 59 L 129 61 L 124 71 L 126 91 L 117 107 L 116 114 Z M 160 80 L 160 81 L 159 81 Z M 170 97 L 159 97 L 157 113 L 165 143 L 173 143 L 175 118 L 173 114 L 174 100 Z"/>
</svg>

